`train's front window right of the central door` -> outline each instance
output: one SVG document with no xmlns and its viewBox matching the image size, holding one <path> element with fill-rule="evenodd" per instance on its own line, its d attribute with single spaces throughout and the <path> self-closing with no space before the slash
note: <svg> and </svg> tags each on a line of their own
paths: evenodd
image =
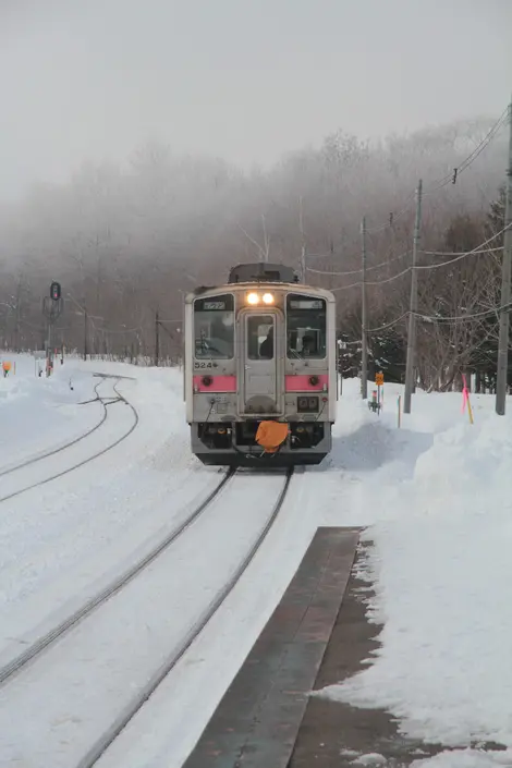
<svg viewBox="0 0 512 768">
<path fill-rule="evenodd" d="M 287 354 L 290 358 L 326 356 L 325 298 L 290 293 L 287 296 Z"/>
</svg>

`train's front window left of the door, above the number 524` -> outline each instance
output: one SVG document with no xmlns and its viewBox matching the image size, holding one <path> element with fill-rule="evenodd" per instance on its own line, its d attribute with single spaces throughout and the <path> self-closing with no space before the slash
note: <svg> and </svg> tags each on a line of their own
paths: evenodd
<svg viewBox="0 0 512 768">
<path fill-rule="evenodd" d="M 234 355 L 234 296 L 196 298 L 194 355 L 198 359 L 231 359 Z"/>
</svg>

